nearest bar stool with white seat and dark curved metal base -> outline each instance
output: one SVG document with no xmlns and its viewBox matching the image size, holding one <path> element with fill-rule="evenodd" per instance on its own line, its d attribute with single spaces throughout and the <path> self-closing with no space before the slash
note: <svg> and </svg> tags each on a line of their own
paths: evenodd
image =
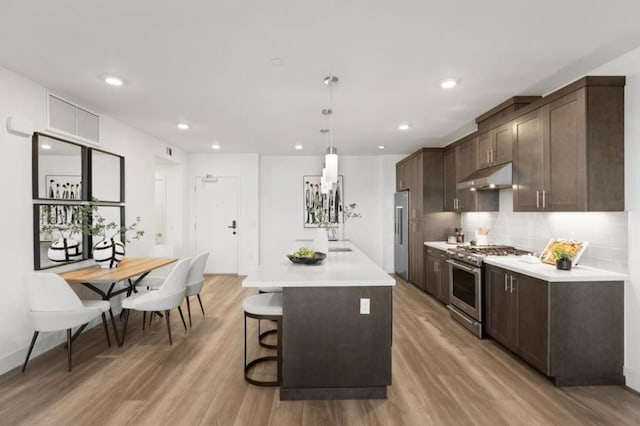
<svg viewBox="0 0 640 426">
<path fill-rule="evenodd" d="M 242 302 L 244 309 L 244 379 L 256 386 L 279 386 L 282 380 L 282 293 L 263 293 L 249 296 Z M 278 345 L 276 355 L 263 356 L 247 364 L 247 317 L 257 320 L 273 320 L 277 324 Z M 255 380 L 249 377 L 249 370 L 268 361 L 277 362 L 275 381 Z"/>
</svg>

